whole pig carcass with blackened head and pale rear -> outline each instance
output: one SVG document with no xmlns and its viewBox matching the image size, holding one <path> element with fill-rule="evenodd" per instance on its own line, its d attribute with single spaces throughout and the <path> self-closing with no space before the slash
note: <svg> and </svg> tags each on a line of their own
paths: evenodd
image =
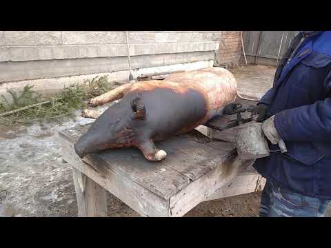
<svg viewBox="0 0 331 248">
<path fill-rule="evenodd" d="M 80 158 L 103 149 L 137 147 L 148 161 L 160 161 L 166 152 L 154 142 L 193 130 L 233 103 L 237 96 L 234 76 L 223 68 L 179 72 L 164 80 L 127 83 L 90 100 L 103 105 L 121 99 L 97 118 L 74 149 Z"/>
</svg>

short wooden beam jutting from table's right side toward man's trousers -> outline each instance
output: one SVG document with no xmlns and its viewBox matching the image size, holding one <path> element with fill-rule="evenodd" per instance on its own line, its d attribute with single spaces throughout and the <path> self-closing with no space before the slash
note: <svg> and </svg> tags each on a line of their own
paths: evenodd
<svg viewBox="0 0 331 248">
<path fill-rule="evenodd" d="M 263 189 L 264 185 L 265 178 L 262 178 L 260 174 L 241 173 L 235 176 L 231 183 L 217 189 L 214 194 L 210 195 L 204 201 L 257 192 Z"/>
</svg>

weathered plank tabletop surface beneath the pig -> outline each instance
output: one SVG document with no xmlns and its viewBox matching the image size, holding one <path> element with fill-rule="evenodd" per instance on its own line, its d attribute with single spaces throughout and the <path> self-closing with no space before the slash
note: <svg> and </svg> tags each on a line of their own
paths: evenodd
<svg viewBox="0 0 331 248">
<path fill-rule="evenodd" d="M 60 132 L 60 136 L 73 144 L 89 126 L 74 127 Z M 157 146 L 168 154 L 164 161 L 147 161 L 139 149 L 134 148 L 108 149 L 88 155 L 83 161 L 90 165 L 105 165 L 161 198 L 169 199 L 191 180 L 201 177 L 235 153 L 230 143 L 210 141 L 199 132 L 174 136 Z"/>
</svg>

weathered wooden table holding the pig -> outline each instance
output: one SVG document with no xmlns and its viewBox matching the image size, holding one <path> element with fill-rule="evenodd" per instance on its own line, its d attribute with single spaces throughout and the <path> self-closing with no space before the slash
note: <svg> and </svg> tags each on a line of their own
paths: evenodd
<svg viewBox="0 0 331 248">
<path fill-rule="evenodd" d="M 150 162 L 138 149 L 111 149 L 79 158 L 74 143 L 88 130 L 59 133 L 63 158 L 72 165 L 79 216 L 106 216 L 106 190 L 141 216 L 183 216 L 205 200 L 255 192 L 263 178 L 240 161 L 234 145 L 197 130 L 158 143 L 164 161 Z M 198 128 L 199 130 L 199 128 Z"/>
</svg>

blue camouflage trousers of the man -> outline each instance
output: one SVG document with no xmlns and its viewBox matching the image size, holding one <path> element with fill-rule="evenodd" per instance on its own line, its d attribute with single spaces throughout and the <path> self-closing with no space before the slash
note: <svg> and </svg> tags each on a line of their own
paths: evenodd
<svg viewBox="0 0 331 248">
<path fill-rule="evenodd" d="M 323 217 L 330 200 L 291 192 L 267 180 L 262 192 L 260 217 Z"/>
</svg>

